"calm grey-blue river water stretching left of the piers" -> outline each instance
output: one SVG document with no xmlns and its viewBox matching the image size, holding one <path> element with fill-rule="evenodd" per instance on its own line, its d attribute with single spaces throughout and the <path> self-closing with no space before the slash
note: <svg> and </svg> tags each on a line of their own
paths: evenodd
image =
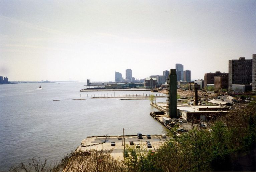
<svg viewBox="0 0 256 172">
<path fill-rule="evenodd" d="M 98 94 L 152 94 L 150 91 L 79 92 L 85 83 L 0 85 L 0 171 L 31 157 L 60 160 L 92 135 L 161 134 L 149 100 L 90 99 Z M 87 100 L 72 100 L 80 98 Z M 88 94 L 88 97 L 87 97 Z M 156 94 L 156 93 L 155 93 Z M 60 100 L 60 101 L 53 101 Z M 166 101 L 160 98 L 157 102 Z"/>
</svg>

